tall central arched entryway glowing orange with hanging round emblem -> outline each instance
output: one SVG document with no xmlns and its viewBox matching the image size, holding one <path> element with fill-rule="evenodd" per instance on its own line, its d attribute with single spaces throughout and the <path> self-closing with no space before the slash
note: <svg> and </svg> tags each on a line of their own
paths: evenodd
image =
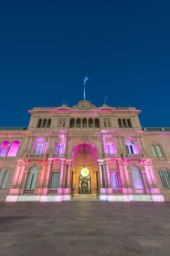
<svg viewBox="0 0 170 256">
<path fill-rule="evenodd" d="M 72 160 L 71 187 L 74 189 L 74 195 L 96 196 L 96 191 L 99 188 L 96 149 L 83 142 L 74 148 Z M 84 167 L 85 169 L 83 169 Z"/>
</svg>

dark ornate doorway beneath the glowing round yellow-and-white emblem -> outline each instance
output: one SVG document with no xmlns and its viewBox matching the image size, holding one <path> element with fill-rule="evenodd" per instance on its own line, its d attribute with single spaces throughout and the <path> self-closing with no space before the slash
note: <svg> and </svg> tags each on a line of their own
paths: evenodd
<svg viewBox="0 0 170 256">
<path fill-rule="evenodd" d="M 88 177 L 82 177 L 82 175 L 79 175 L 79 194 L 91 194 L 91 177 L 88 175 Z"/>
</svg>

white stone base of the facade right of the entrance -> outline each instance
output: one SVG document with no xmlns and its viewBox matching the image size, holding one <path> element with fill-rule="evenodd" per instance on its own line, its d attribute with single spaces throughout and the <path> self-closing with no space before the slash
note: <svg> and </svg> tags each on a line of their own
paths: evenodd
<svg viewBox="0 0 170 256">
<path fill-rule="evenodd" d="M 154 201 L 164 202 L 163 195 L 99 195 L 101 201 L 130 202 L 130 201 Z"/>
</svg>

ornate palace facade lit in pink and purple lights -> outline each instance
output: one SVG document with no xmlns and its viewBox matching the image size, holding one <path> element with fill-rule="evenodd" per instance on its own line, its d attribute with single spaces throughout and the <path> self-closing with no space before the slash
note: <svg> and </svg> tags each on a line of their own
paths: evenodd
<svg viewBox="0 0 170 256">
<path fill-rule="evenodd" d="M 170 201 L 170 128 L 86 100 L 28 112 L 28 128 L 0 128 L 0 201 Z"/>
</svg>

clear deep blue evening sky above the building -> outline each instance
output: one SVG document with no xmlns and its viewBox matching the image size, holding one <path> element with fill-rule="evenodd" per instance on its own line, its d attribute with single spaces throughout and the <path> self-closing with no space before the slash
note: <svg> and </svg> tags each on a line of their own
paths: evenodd
<svg viewBox="0 0 170 256">
<path fill-rule="evenodd" d="M 169 1 L 2 1 L 0 126 L 33 107 L 134 106 L 142 126 L 168 126 Z"/>
</svg>

